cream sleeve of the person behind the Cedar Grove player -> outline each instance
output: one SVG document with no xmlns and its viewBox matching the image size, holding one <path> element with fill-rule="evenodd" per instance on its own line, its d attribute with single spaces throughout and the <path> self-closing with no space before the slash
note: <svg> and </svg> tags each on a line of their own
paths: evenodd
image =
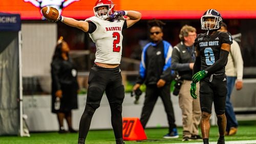
<svg viewBox="0 0 256 144">
<path fill-rule="evenodd" d="M 240 46 L 236 41 L 233 41 L 231 44 L 231 55 L 234 61 L 234 66 L 236 67 L 237 72 L 237 80 L 243 79 L 243 69 L 244 69 L 244 62 L 240 50 Z"/>
</svg>

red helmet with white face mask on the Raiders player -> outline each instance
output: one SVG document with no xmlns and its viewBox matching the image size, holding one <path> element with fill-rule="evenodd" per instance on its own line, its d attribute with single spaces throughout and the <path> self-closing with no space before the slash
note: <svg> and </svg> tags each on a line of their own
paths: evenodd
<svg viewBox="0 0 256 144">
<path fill-rule="evenodd" d="M 107 7 L 108 10 L 98 10 L 99 7 Z M 99 19 L 107 19 L 114 13 L 114 4 L 111 0 L 98 0 L 93 8 L 94 15 Z"/>
</svg>

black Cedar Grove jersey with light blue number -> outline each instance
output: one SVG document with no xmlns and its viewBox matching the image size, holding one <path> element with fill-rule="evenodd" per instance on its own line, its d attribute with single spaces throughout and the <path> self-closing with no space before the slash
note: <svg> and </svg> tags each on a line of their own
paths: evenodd
<svg viewBox="0 0 256 144">
<path fill-rule="evenodd" d="M 200 51 L 201 70 L 211 66 L 220 58 L 222 43 L 232 44 L 229 32 L 215 32 L 212 35 L 204 33 L 197 36 L 194 45 Z M 215 74 L 220 73 L 225 73 L 225 66 L 215 72 Z"/>
</svg>

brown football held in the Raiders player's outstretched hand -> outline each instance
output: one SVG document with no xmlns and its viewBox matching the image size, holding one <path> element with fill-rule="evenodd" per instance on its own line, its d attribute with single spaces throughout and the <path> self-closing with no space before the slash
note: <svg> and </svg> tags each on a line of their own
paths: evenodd
<svg viewBox="0 0 256 144">
<path fill-rule="evenodd" d="M 56 21 L 59 18 L 59 11 L 51 6 L 46 6 L 41 9 L 42 15 L 48 20 Z"/>
</svg>

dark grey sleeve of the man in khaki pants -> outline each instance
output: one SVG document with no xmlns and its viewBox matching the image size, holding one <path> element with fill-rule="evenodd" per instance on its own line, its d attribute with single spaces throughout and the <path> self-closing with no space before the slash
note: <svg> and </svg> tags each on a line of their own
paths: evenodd
<svg viewBox="0 0 256 144">
<path fill-rule="evenodd" d="M 190 70 L 189 63 L 180 63 L 180 50 L 178 46 L 174 46 L 174 50 L 172 53 L 172 69 L 178 71 Z"/>
</svg>

